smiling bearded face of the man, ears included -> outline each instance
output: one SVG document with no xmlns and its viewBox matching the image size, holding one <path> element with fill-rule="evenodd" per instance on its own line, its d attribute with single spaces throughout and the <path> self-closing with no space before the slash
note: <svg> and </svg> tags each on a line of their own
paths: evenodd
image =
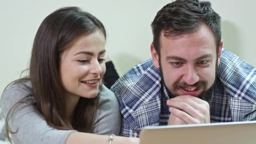
<svg viewBox="0 0 256 144">
<path fill-rule="evenodd" d="M 216 54 L 211 29 L 202 24 L 197 30 L 173 37 L 160 35 L 160 57 L 151 46 L 155 67 L 162 72 L 165 86 L 172 96 L 200 97 L 209 90 L 216 77 L 222 42 Z"/>
</svg>

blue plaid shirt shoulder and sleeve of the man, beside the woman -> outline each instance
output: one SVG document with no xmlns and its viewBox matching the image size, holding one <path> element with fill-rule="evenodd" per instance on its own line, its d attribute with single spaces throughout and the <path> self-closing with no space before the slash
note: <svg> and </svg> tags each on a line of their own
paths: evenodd
<svg viewBox="0 0 256 144">
<path fill-rule="evenodd" d="M 111 87 L 120 104 L 123 120 L 133 131 L 157 125 L 160 115 L 160 70 L 152 59 L 136 65 Z M 149 120 L 147 117 L 155 117 Z"/>
</svg>

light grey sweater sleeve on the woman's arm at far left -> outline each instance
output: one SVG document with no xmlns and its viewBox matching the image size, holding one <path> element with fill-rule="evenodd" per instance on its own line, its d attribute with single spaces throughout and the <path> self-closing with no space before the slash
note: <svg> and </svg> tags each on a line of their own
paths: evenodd
<svg viewBox="0 0 256 144">
<path fill-rule="evenodd" d="M 17 101 L 28 95 L 29 91 L 17 85 L 7 88 L 0 99 L 0 107 L 6 118 L 11 107 Z M 35 112 L 32 100 L 20 103 L 14 109 L 8 123 L 14 144 L 65 144 L 69 133 L 74 131 L 57 130 L 49 126 L 40 115 Z"/>
</svg>

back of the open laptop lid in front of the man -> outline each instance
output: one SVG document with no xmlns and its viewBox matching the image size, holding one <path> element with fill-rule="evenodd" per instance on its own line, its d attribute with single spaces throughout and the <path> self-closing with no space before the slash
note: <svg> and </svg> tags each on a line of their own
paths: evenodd
<svg viewBox="0 0 256 144">
<path fill-rule="evenodd" d="M 140 144 L 256 144 L 256 121 L 145 127 Z"/>
</svg>

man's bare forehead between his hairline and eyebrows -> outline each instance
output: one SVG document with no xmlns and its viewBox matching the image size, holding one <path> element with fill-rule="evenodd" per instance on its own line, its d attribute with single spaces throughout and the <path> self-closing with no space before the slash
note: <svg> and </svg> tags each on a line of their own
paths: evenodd
<svg viewBox="0 0 256 144">
<path fill-rule="evenodd" d="M 172 37 L 160 35 L 161 56 L 180 56 L 184 59 L 212 54 L 216 57 L 216 41 L 211 29 L 202 24 L 195 31 Z"/>
</svg>

